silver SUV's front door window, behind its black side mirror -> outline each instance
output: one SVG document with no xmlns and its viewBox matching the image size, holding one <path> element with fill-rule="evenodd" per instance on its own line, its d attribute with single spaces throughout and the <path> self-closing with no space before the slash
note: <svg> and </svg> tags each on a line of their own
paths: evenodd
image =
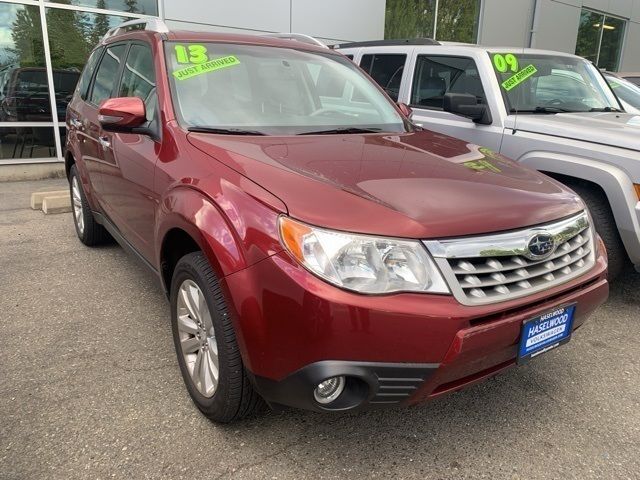
<svg viewBox="0 0 640 480">
<path fill-rule="evenodd" d="M 442 109 L 445 93 L 468 93 L 475 95 L 478 103 L 487 103 L 472 59 L 419 55 L 413 76 L 411 105 Z"/>
</svg>

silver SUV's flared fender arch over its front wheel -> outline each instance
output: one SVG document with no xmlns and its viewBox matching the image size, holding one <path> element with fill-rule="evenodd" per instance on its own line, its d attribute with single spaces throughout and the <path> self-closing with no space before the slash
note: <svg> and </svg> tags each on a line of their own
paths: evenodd
<svg viewBox="0 0 640 480">
<path fill-rule="evenodd" d="M 554 152 L 528 152 L 519 161 L 536 170 L 600 185 L 629 258 L 635 265 L 640 264 L 640 202 L 633 182 L 623 170 L 589 158 Z"/>
</svg>

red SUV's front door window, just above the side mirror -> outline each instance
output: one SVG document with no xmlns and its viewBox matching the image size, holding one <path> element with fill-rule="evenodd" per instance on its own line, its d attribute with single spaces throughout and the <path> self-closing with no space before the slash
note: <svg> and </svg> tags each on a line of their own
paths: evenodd
<svg viewBox="0 0 640 480">
<path fill-rule="evenodd" d="M 147 110 L 147 120 L 154 118 L 156 100 L 156 72 L 148 45 L 134 43 L 124 65 L 118 97 L 138 97 Z"/>
</svg>

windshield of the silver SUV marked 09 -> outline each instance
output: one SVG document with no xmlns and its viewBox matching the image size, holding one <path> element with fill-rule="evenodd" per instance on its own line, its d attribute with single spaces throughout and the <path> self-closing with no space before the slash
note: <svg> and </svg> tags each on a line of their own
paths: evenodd
<svg viewBox="0 0 640 480">
<path fill-rule="evenodd" d="M 617 111 L 596 67 L 582 58 L 490 53 L 509 113 Z"/>
</svg>

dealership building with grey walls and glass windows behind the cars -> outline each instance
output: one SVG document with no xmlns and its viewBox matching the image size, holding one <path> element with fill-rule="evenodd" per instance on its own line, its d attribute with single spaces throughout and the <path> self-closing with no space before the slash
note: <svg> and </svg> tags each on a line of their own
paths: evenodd
<svg viewBox="0 0 640 480">
<path fill-rule="evenodd" d="M 535 47 L 640 71 L 640 0 L 0 0 L 0 177 L 60 168 L 66 105 L 88 54 L 109 28 L 150 16 L 173 29 L 298 32 L 327 44 Z"/>
</svg>

